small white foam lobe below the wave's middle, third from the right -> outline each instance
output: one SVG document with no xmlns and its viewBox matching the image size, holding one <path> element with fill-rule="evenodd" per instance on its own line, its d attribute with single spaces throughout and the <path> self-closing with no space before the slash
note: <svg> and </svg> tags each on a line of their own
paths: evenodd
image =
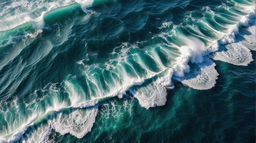
<svg viewBox="0 0 256 143">
<path fill-rule="evenodd" d="M 146 109 L 164 106 L 166 103 L 166 88 L 157 82 L 151 82 L 146 86 L 132 87 L 129 91 L 139 100 L 140 106 Z"/>
</svg>

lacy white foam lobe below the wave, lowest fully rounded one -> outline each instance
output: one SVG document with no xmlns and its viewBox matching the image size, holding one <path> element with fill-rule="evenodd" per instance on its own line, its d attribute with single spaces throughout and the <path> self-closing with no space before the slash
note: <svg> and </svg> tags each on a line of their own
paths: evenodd
<svg viewBox="0 0 256 143">
<path fill-rule="evenodd" d="M 91 131 L 98 113 L 98 107 L 88 109 L 77 109 L 69 114 L 60 113 L 52 120 L 51 126 L 60 134 L 72 134 L 81 139 Z"/>
</svg>

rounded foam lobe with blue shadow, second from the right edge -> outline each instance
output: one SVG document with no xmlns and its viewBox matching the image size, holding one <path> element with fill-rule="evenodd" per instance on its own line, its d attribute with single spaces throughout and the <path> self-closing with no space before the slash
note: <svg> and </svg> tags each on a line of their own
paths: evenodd
<svg viewBox="0 0 256 143">
<path fill-rule="evenodd" d="M 204 57 L 204 62 L 194 64 L 194 68 L 183 77 L 173 76 L 173 79 L 182 82 L 193 89 L 206 90 L 211 89 L 216 84 L 218 72 L 214 68 L 216 66 L 207 56 Z"/>
</svg>

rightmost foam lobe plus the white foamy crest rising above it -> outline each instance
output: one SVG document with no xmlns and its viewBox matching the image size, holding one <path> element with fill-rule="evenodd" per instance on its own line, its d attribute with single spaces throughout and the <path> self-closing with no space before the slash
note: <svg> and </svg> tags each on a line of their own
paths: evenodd
<svg viewBox="0 0 256 143">
<path fill-rule="evenodd" d="M 218 52 L 211 53 L 209 57 L 214 60 L 220 60 L 233 65 L 247 66 L 252 59 L 252 53 L 249 49 L 255 50 L 255 6 L 247 6 L 252 10 L 252 14 L 248 14 L 242 17 L 240 22 L 231 27 L 231 32 L 227 33 L 219 42 L 222 44 Z M 247 28 L 250 34 L 241 28 L 241 34 L 244 34 L 244 39 L 241 39 L 238 32 L 240 26 L 250 26 Z M 249 34 L 249 35 L 248 35 Z M 236 42 L 236 36 L 240 41 Z M 249 42 L 249 43 L 248 43 Z M 227 44 L 229 43 L 229 44 Z M 226 45 L 224 45 L 226 44 Z"/>
</svg>

